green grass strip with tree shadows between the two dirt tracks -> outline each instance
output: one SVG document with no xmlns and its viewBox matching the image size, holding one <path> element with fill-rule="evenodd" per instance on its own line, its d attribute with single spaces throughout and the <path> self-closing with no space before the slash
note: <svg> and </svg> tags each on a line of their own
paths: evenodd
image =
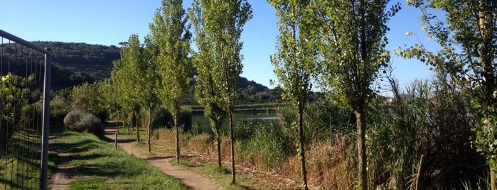
<svg viewBox="0 0 497 190">
<path fill-rule="evenodd" d="M 55 146 L 70 153 L 74 178 L 69 189 L 188 189 L 145 160 L 116 149 L 95 135 L 65 131 Z"/>
</svg>

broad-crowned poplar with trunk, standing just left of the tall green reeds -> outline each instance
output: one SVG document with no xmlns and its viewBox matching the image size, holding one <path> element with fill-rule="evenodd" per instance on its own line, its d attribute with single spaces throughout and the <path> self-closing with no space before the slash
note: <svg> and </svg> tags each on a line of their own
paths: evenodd
<svg viewBox="0 0 497 190">
<path fill-rule="evenodd" d="M 319 45 L 323 58 L 321 81 L 331 96 L 356 115 L 358 177 L 360 187 L 368 189 L 365 147 L 365 104 L 373 95 L 372 82 L 386 67 L 390 52 L 385 50 L 386 23 L 400 9 L 387 11 L 389 0 L 314 0 L 320 23 Z"/>
</svg>

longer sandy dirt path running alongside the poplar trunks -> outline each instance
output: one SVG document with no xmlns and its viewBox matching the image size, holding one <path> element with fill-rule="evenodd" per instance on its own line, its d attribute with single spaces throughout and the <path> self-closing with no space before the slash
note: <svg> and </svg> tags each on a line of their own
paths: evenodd
<svg viewBox="0 0 497 190">
<path fill-rule="evenodd" d="M 112 142 L 114 142 L 115 132 L 116 132 L 115 128 L 107 127 L 105 129 L 105 136 L 109 138 Z M 161 171 L 164 172 L 165 174 L 175 179 L 178 179 L 179 181 L 181 181 L 182 184 L 191 187 L 191 189 L 198 189 L 198 190 L 223 189 L 221 186 L 215 184 L 214 181 L 208 179 L 207 177 L 203 177 L 202 175 L 197 174 L 195 172 L 191 172 L 187 169 L 171 165 L 170 162 L 171 160 L 174 159 L 174 157 L 171 155 L 156 154 L 155 156 L 149 156 L 146 150 L 142 150 L 139 147 L 134 147 L 134 145 L 130 141 L 117 139 L 117 142 L 118 145 L 122 147 L 124 151 L 128 152 L 131 155 L 146 160 L 154 167 L 161 169 Z"/>
</svg>

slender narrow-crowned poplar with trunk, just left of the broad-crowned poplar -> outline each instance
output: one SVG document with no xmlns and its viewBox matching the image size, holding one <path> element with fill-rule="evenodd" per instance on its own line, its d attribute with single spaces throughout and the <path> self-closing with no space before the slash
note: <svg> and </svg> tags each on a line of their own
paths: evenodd
<svg viewBox="0 0 497 190">
<path fill-rule="evenodd" d="M 316 43 L 311 38 L 312 27 L 309 14 L 309 0 L 268 0 L 279 17 L 278 52 L 271 57 L 274 73 L 283 84 L 283 98 L 292 102 L 297 111 L 296 127 L 299 132 L 298 152 L 301 160 L 303 189 L 307 186 L 304 108 L 312 83 L 311 77 L 316 69 Z"/>
</svg>

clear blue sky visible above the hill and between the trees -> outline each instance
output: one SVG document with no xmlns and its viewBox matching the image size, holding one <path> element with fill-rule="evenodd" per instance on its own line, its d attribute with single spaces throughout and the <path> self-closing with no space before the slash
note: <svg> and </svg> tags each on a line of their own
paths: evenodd
<svg viewBox="0 0 497 190">
<path fill-rule="evenodd" d="M 242 33 L 242 54 L 245 57 L 242 77 L 269 86 L 270 79 L 277 79 L 269 56 L 276 52 L 278 18 L 267 1 L 248 1 L 252 5 L 253 18 Z M 183 6 L 189 7 L 191 2 L 185 0 Z M 388 49 L 392 52 L 398 46 L 417 43 L 415 38 L 406 37 L 405 33 L 409 31 L 422 40 L 426 39 L 419 25 L 420 12 L 405 6 L 403 0 L 400 3 L 402 10 L 389 23 Z M 140 38 L 148 34 L 149 23 L 160 5 L 160 0 L 4 1 L 0 4 L 0 29 L 28 41 L 118 45 L 133 33 Z M 416 60 L 392 56 L 391 61 L 401 86 L 433 75 L 428 67 Z"/>
</svg>

